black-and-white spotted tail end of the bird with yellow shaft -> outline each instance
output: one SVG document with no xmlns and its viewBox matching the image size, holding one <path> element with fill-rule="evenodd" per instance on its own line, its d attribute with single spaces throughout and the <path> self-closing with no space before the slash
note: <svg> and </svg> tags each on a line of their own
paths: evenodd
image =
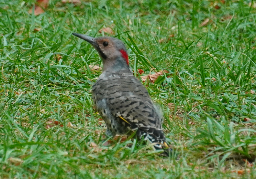
<svg viewBox="0 0 256 179">
<path fill-rule="evenodd" d="M 170 156 L 172 154 L 172 149 L 167 144 L 162 130 L 150 127 L 139 127 L 137 130 L 137 136 L 140 139 L 154 143 L 154 148 L 156 150 L 163 150 L 164 152 L 161 153 L 162 156 Z"/>
</svg>

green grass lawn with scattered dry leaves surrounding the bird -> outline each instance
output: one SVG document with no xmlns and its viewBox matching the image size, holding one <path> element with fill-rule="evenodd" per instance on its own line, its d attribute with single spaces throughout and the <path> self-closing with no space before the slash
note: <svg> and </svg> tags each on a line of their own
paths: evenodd
<svg viewBox="0 0 256 179">
<path fill-rule="evenodd" d="M 51 0 L 34 16 L 32 0 L 0 1 L 0 178 L 255 178 L 256 9 L 216 2 Z M 135 73 L 169 71 L 145 85 L 178 158 L 135 139 L 90 146 L 105 131 L 90 91 L 100 71 L 88 66 L 101 61 L 71 33 L 102 27 L 125 42 Z"/>
</svg>

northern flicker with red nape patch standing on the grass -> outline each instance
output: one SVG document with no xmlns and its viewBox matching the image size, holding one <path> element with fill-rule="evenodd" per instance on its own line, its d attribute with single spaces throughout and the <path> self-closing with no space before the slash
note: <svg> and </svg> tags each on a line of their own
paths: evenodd
<svg viewBox="0 0 256 179">
<path fill-rule="evenodd" d="M 163 149 L 162 155 L 169 156 L 172 149 L 162 131 L 162 111 L 133 76 L 124 43 L 114 37 L 72 34 L 93 45 L 102 58 L 103 72 L 92 87 L 92 98 L 106 123 L 106 135 L 135 131 L 139 139 L 154 143 L 156 150 Z"/>
</svg>

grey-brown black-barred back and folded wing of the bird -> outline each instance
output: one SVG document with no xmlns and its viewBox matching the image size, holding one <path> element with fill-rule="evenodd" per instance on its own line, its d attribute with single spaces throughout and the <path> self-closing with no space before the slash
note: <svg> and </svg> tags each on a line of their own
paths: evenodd
<svg viewBox="0 0 256 179">
<path fill-rule="evenodd" d="M 106 89 L 106 90 L 105 90 Z M 138 127 L 161 130 L 161 115 L 152 103 L 146 88 L 133 75 L 113 74 L 99 79 L 93 88 L 98 98 L 106 99 L 114 116 Z"/>
</svg>

